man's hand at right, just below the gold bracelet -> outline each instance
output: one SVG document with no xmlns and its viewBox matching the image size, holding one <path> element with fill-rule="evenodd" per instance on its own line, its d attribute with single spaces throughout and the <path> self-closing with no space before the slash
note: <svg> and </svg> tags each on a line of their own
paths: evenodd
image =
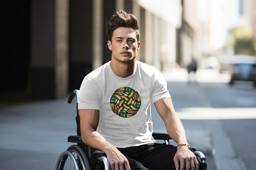
<svg viewBox="0 0 256 170">
<path fill-rule="evenodd" d="M 198 170 L 199 164 L 187 146 L 179 146 L 173 158 L 176 170 Z"/>
</svg>

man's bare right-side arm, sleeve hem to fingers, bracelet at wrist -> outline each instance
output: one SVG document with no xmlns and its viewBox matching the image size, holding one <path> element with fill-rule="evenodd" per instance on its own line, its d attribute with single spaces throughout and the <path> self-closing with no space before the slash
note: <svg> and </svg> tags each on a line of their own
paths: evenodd
<svg viewBox="0 0 256 170">
<path fill-rule="evenodd" d="M 177 144 L 188 144 L 183 124 L 174 110 L 171 97 L 160 99 L 154 104 L 158 114 L 165 123 L 169 136 Z M 187 146 L 180 145 L 177 148 L 173 161 L 176 170 L 198 170 L 198 161 L 194 153 L 190 151 Z"/>
</svg>

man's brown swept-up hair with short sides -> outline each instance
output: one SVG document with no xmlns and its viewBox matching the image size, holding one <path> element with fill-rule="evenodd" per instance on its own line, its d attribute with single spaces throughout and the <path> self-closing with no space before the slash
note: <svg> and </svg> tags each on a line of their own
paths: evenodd
<svg viewBox="0 0 256 170">
<path fill-rule="evenodd" d="M 110 41 L 112 39 L 114 30 L 119 27 L 132 28 L 136 32 L 136 37 L 139 41 L 140 33 L 138 21 L 136 17 L 131 13 L 127 13 L 123 10 L 115 12 L 110 20 L 107 21 L 105 27 Z"/>
</svg>

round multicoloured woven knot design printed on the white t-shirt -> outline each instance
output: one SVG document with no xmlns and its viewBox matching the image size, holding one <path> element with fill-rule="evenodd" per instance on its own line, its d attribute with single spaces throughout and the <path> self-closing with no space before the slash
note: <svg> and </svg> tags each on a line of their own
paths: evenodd
<svg viewBox="0 0 256 170">
<path fill-rule="evenodd" d="M 130 87 L 117 89 L 110 99 L 112 111 L 120 117 L 134 116 L 138 112 L 140 105 L 139 93 Z"/>
</svg>

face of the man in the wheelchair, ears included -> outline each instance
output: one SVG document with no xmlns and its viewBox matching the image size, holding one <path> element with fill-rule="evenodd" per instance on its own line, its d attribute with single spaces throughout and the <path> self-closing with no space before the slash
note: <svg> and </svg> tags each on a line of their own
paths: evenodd
<svg viewBox="0 0 256 170">
<path fill-rule="evenodd" d="M 140 42 L 136 38 L 136 32 L 131 28 L 119 27 L 114 30 L 108 47 L 112 51 L 112 60 L 130 62 L 136 58 Z"/>
</svg>

